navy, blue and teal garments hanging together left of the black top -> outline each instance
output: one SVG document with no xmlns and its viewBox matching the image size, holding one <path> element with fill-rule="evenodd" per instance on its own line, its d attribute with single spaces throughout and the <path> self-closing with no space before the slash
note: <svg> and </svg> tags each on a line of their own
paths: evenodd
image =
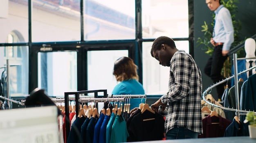
<svg viewBox="0 0 256 143">
<path fill-rule="evenodd" d="M 110 101 L 111 102 L 111 101 Z M 112 105 L 112 107 L 114 107 Z M 71 125 L 67 143 L 106 143 L 126 142 L 128 132 L 121 108 L 84 108 Z M 109 127 L 108 127 L 109 126 Z"/>
</svg>

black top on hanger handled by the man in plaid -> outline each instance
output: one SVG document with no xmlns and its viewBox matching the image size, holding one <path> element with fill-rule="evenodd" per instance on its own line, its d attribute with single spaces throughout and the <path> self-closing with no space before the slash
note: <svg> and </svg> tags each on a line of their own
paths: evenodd
<svg viewBox="0 0 256 143">
<path fill-rule="evenodd" d="M 164 117 L 159 113 L 145 111 L 143 114 L 137 110 L 136 115 L 128 119 L 127 130 L 129 137 L 127 142 L 133 141 L 155 141 L 164 138 Z M 155 118 L 155 119 L 152 119 Z M 152 119 L 143 121 L 144 119 Z"/>
</svg>

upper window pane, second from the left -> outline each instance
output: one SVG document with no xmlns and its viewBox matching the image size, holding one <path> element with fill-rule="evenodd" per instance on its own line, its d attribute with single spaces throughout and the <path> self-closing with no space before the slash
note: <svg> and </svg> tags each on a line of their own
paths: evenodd
<svg viewBox="0 0 256 143">
<path fill-rule="evenodd" d="M 32 41 L 80 41 L 80 0 L 33 0 Z"/>
</svg>

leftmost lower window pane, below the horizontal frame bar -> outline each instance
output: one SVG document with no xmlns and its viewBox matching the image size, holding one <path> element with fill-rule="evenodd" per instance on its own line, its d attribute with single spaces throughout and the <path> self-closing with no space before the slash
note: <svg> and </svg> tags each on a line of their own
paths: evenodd
<svg viewBox="0 0 256 143">
<path fill-rule="evenodd" d="M 11 47 L 11 46 L 10 46 Z M 11 47 L 13 51 L 20 49 L 20 57 L 14 56 L 13 58 L 7 58 L 2 56 L 4 47 L 0 47 L 0 73 L 5 70 L 2 68 L 6 66 L 7 59 L 9 59 L 10 64 L 10 96 L 24 96 L 28 95 L 29 89 L 29 61 L 28 61 L 28 47 L 27 46 L 13 46 Z"/>
</svg>

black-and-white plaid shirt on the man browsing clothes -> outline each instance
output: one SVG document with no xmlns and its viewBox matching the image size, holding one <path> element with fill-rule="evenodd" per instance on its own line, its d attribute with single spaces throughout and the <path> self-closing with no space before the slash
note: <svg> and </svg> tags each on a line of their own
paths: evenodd
<svg viewBox="0 0 256 143">
<path fill-rule="evenodd" d="M 161 97 L 167 103 L 165 132 L 183 126 L 202 133 L 202 74 L 191 55 L 184 50 L 171 58 L 168 93 Z"/>
</svg>

